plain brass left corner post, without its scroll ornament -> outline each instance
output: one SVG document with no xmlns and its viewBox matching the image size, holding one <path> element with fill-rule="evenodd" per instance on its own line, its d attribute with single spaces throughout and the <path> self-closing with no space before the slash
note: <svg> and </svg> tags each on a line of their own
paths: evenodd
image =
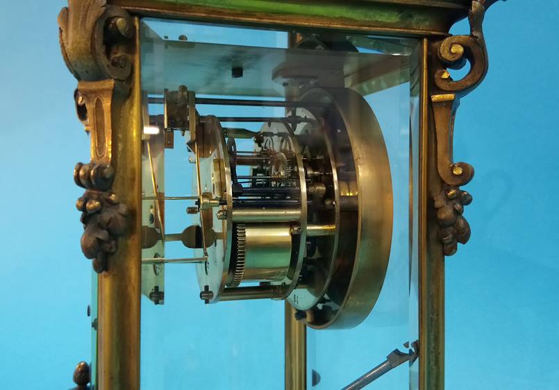
<svg viewBox="0 0 559 390">
<path fill-rule="evenodd" d="M 141 91 L 138 21 L 128 99 L 113 107 L 115 181 L 112 191 L 131 215 L 141 210 Z M 119 239 L 117 253 L 109 256 L 110 267 L 99 275 L 99 390 L 140 389 L 140 218 L 132 218 L 126 237 Z"/>
</svg>

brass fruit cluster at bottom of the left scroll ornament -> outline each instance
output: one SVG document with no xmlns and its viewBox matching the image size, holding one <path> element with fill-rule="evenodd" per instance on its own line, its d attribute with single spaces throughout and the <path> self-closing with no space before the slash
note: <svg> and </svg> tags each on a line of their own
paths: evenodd
<svg viewBox="0 0 559 390">
<path fill-rule="evenodd" d="M 76 184 L 85 188 L 76 202 L 77 209 L 82 212 L 84 230 L 81 250 L 85 257 L 93 260 L 97 273 L 108 269 L 107 257 L 117 251 L 117 239 L 126 232 L 128 208 L 108 191 L 114 175 L 114 169 L 107 164 L 78 162 L 74 169 Z"/>
</svg>

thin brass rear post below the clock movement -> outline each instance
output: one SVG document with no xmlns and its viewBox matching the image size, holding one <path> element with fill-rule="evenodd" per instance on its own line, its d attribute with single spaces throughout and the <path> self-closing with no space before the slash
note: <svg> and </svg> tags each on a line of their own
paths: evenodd
<svg viewBox="0 0 559 390">
<path fill-rule="evenodd" d="M 307 330 L 285 302 L 285 390 L 307 389 Z"/>
</svg>

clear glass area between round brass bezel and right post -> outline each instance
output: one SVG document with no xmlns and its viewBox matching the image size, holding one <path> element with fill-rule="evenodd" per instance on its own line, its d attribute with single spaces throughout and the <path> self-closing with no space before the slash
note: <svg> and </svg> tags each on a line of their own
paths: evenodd
<svg viewBox="0 0 559 390">
<path fill-rule="evenodd" d="M 340 389 L 383 363 L 394 349 L 419 338 L 417 210 L 419 146 L 419 46 L 415 40 L 355 37 L 360 50 L 383 53 L 387 67 L 356 88 L 383 130 L 392 176 L 394 224 L 390 262 L 381 294 L 367 319 L 349 330 L 310 330 L 308 383 Z M 375 69 L 376 70 L 376 69 Z M 408 344 L 409 345 L 409 344 Z M 383 375 L 367 389 L 417 389 L 417 360 Z"/>
</svg>

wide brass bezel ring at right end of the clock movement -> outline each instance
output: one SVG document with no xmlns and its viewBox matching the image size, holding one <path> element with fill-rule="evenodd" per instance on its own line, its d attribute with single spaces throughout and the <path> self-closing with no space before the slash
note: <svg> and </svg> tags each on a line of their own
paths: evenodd
<svg viewBox="0 0 559 390">
<path fill-rule="evenodd" d="M 312 303 L 313 315 L 308 325 L 351 328 L 372 310 L 384 282 L 392 241 L 390 164 L 374 112 L 359 94 L 348 89 L 310 90 L 303 99 L 328 101 L 339 113 L 331 123 L 326 121 L 326 134 L 333 142 L 334 166 L 342 164 L 355 172 L 351 180 L 340 186 L 340 195 L 358 198 L 357 209 L 340 210 L 342 244 L 334 251 L 335 262 L 326 271 L 328 274 L 336 270 L 326 283 L 330 300 L 322 303 L 321 309 Z M 351 153 L 347 148 L 341 149 L 347 144 L 351 145 Z M 341 207 L 342 202 L 335 204 Z M 300 310 L 310 309 L 300 304 L 308 292 L 294 291 L 290 302 Z"/>
</svg>

